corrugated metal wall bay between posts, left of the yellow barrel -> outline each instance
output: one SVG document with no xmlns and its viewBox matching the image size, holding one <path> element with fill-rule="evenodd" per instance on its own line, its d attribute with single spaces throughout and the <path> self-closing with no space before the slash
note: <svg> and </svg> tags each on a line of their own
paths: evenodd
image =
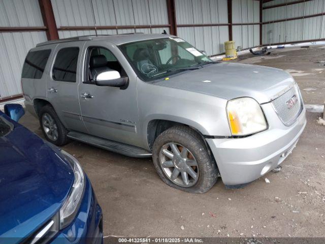
<svg viewBox="0 0 325 244">
<path fill-rule="evenodd" d="M 177 24 L 228 24 L 226 0 L 176 0 Z M 177 27 L 177 35 L 208 55 L 224 52 L 228 25 Z"/>
</svg>

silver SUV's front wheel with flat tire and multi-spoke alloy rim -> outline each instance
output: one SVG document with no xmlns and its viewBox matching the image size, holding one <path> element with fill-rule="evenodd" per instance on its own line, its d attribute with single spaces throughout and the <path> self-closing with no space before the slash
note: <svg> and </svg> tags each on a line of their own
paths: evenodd
<svg viewBox="0 0 325 244">
<path fill-rule="evenodd" d="M 203 139 L 186 126 L 161 133 L 153 143 L 152 159 L 160 178 L 185 192 L 207 192 L 217 180 L 217 166 Z"/>
</svg>

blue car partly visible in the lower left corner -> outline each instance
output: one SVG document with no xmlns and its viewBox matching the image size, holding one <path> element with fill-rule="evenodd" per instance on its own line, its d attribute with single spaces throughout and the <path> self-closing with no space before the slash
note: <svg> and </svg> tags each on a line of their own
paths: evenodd
<svg viewBox="0 0 325 244">
<path fill-rule="evenodd" d="M 103 243 L 102 209 L 87 175 L 66 151 L 0 111 L 0 243 Z"/>
</svg>

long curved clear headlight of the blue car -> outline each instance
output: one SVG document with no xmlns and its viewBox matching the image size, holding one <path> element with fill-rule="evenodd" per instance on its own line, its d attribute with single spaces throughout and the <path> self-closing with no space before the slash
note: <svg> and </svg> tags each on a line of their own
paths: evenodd
<svg viewBox="0 0 325 244">
<path fill-rule="evenodd" d="M 61 154 L 70 163 L 75 174 L 75 181 L 69 196 L 60 208 L 60 229 L 63 229 L 74 220 L 79 210 L 85 188 L 85 174 L 74 157 L 64 150 L 61 150 Z"/>
</svg>

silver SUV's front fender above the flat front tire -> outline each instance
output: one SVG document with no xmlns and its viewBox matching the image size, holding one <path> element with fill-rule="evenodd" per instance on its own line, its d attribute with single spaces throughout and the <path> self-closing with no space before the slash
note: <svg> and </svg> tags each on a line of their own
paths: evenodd
<svg viewBox="0 0 325 244">
<path fill-rule="evenodd" d="M 188 90 L 138 80 L 139 120 L 144 142 L 153 119 L 164 119 L 197 129 L 208 136 L 231 136 L 227 100 Z"/>
</svg>

